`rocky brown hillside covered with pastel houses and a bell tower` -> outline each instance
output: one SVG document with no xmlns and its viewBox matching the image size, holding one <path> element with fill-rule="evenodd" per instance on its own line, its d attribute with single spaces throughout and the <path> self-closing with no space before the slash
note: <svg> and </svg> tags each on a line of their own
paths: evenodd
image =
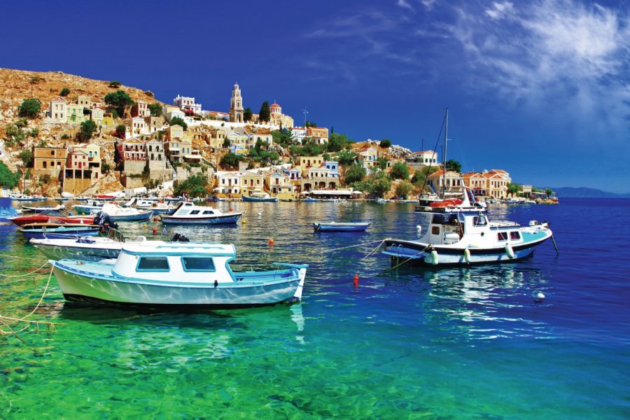
<svg viewBox="0 0 630 420">
<path fill-rule="evenodd" d="M 165 104 L 116 80 L 59 71 L 0 69 L 0 80 L 0 160 L 16 175 L 13 189 L 25 193 L 147 188 L 160 195 L 269 193 L 288 200 L 406 198 L 423 188 L 460 191 L 461 180 L 482 197 L 533 190 L 515 188 L 502 169 L 444 171 L 435 151 L 355 142 L 305 119 L 296 126 L 275 102 L 252 113 L 238 84 L 231 97 L 226 93 L 225 113 L 204 110 L 195 97 L 178 95 Z"/>
</svg>

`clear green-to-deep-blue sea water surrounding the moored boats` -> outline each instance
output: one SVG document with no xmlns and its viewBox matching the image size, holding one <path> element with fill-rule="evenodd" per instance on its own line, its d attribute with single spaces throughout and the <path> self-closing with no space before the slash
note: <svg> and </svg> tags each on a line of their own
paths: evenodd
<svg viewBox="0 0 630 420">
<path fill-rule="evenodd" d="M 168 228 L 167 236 L 233 242 L 236 269 L 309 263 L 302 304 L 196 313 L 80 307 L 64 302 L 53 279 L 32 318 L 57 323 L 55 331 L 20 333 L 27 345 L 0 337 L 0 418 L 630 416 L 630 200 L 493 207 L 494 218 L 550 221 L 560 256 L 548 242 L 524 262 L 440 271 L 363 259 L 376 243 L 335 250 L 415 237 L 426 219 L 412 204 L 218 207 L 230 206 L 245 212 L 245 225 Z M 372 226 L 312 232 L 312 221 L 332 218 Z M 153 236 L 153 223 L 121 228 Z M 0 253 L 13 257 L 0 256 L 3 274 L 43 263 L 10 226 L 0 226 Z M 0 278 L 0 314 L 31 311 L 48 279 L 41 271 Z M 547 297 L 535 303 L 538 292 Z"/>
</svg>

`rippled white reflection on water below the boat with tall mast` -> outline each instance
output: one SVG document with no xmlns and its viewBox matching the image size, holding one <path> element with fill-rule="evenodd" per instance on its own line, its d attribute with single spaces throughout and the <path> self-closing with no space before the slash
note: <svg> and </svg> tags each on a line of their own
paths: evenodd
<svg viewBox="0 0 630 420">
<path fill-rule="evenodd" d="M 535 294 L 545 290 L 545 274 L 534 267 L 498 265 L 458 269 L 398 267 L 392 281 L 407 283 L 428 322 L 470 339 L 526 336 L 548 338 L 552 332 L 538 319 L 545 302 Z"/>
</svg>

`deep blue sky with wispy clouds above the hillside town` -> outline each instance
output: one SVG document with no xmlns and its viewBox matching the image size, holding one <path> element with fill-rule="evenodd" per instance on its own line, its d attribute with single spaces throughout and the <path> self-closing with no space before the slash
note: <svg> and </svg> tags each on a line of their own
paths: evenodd
<svg viewBox="0 0 630 420">
<path fill-rule="evenodd" d="M 626 1 L 8 1 L 0 66 L 263 101 L 519 183 L 629 193 Z M 53 36 L 55 34 L 57 39 Z M 439 150 L 438 150 L 439 151 Z"/>
</svg>

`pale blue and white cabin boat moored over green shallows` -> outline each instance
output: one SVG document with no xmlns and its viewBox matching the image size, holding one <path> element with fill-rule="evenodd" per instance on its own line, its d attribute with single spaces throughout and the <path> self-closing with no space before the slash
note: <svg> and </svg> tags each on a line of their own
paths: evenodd
<svg viewBox="0 0 630 420">
<path fill-rule="evenodd" d="M 149 306 L 255 307 L 300 300 L 307 265 L 232 272 L 232 244 L 125 245 L 111 262 L 50 260 L 66 300 Z"/>
</svg>

